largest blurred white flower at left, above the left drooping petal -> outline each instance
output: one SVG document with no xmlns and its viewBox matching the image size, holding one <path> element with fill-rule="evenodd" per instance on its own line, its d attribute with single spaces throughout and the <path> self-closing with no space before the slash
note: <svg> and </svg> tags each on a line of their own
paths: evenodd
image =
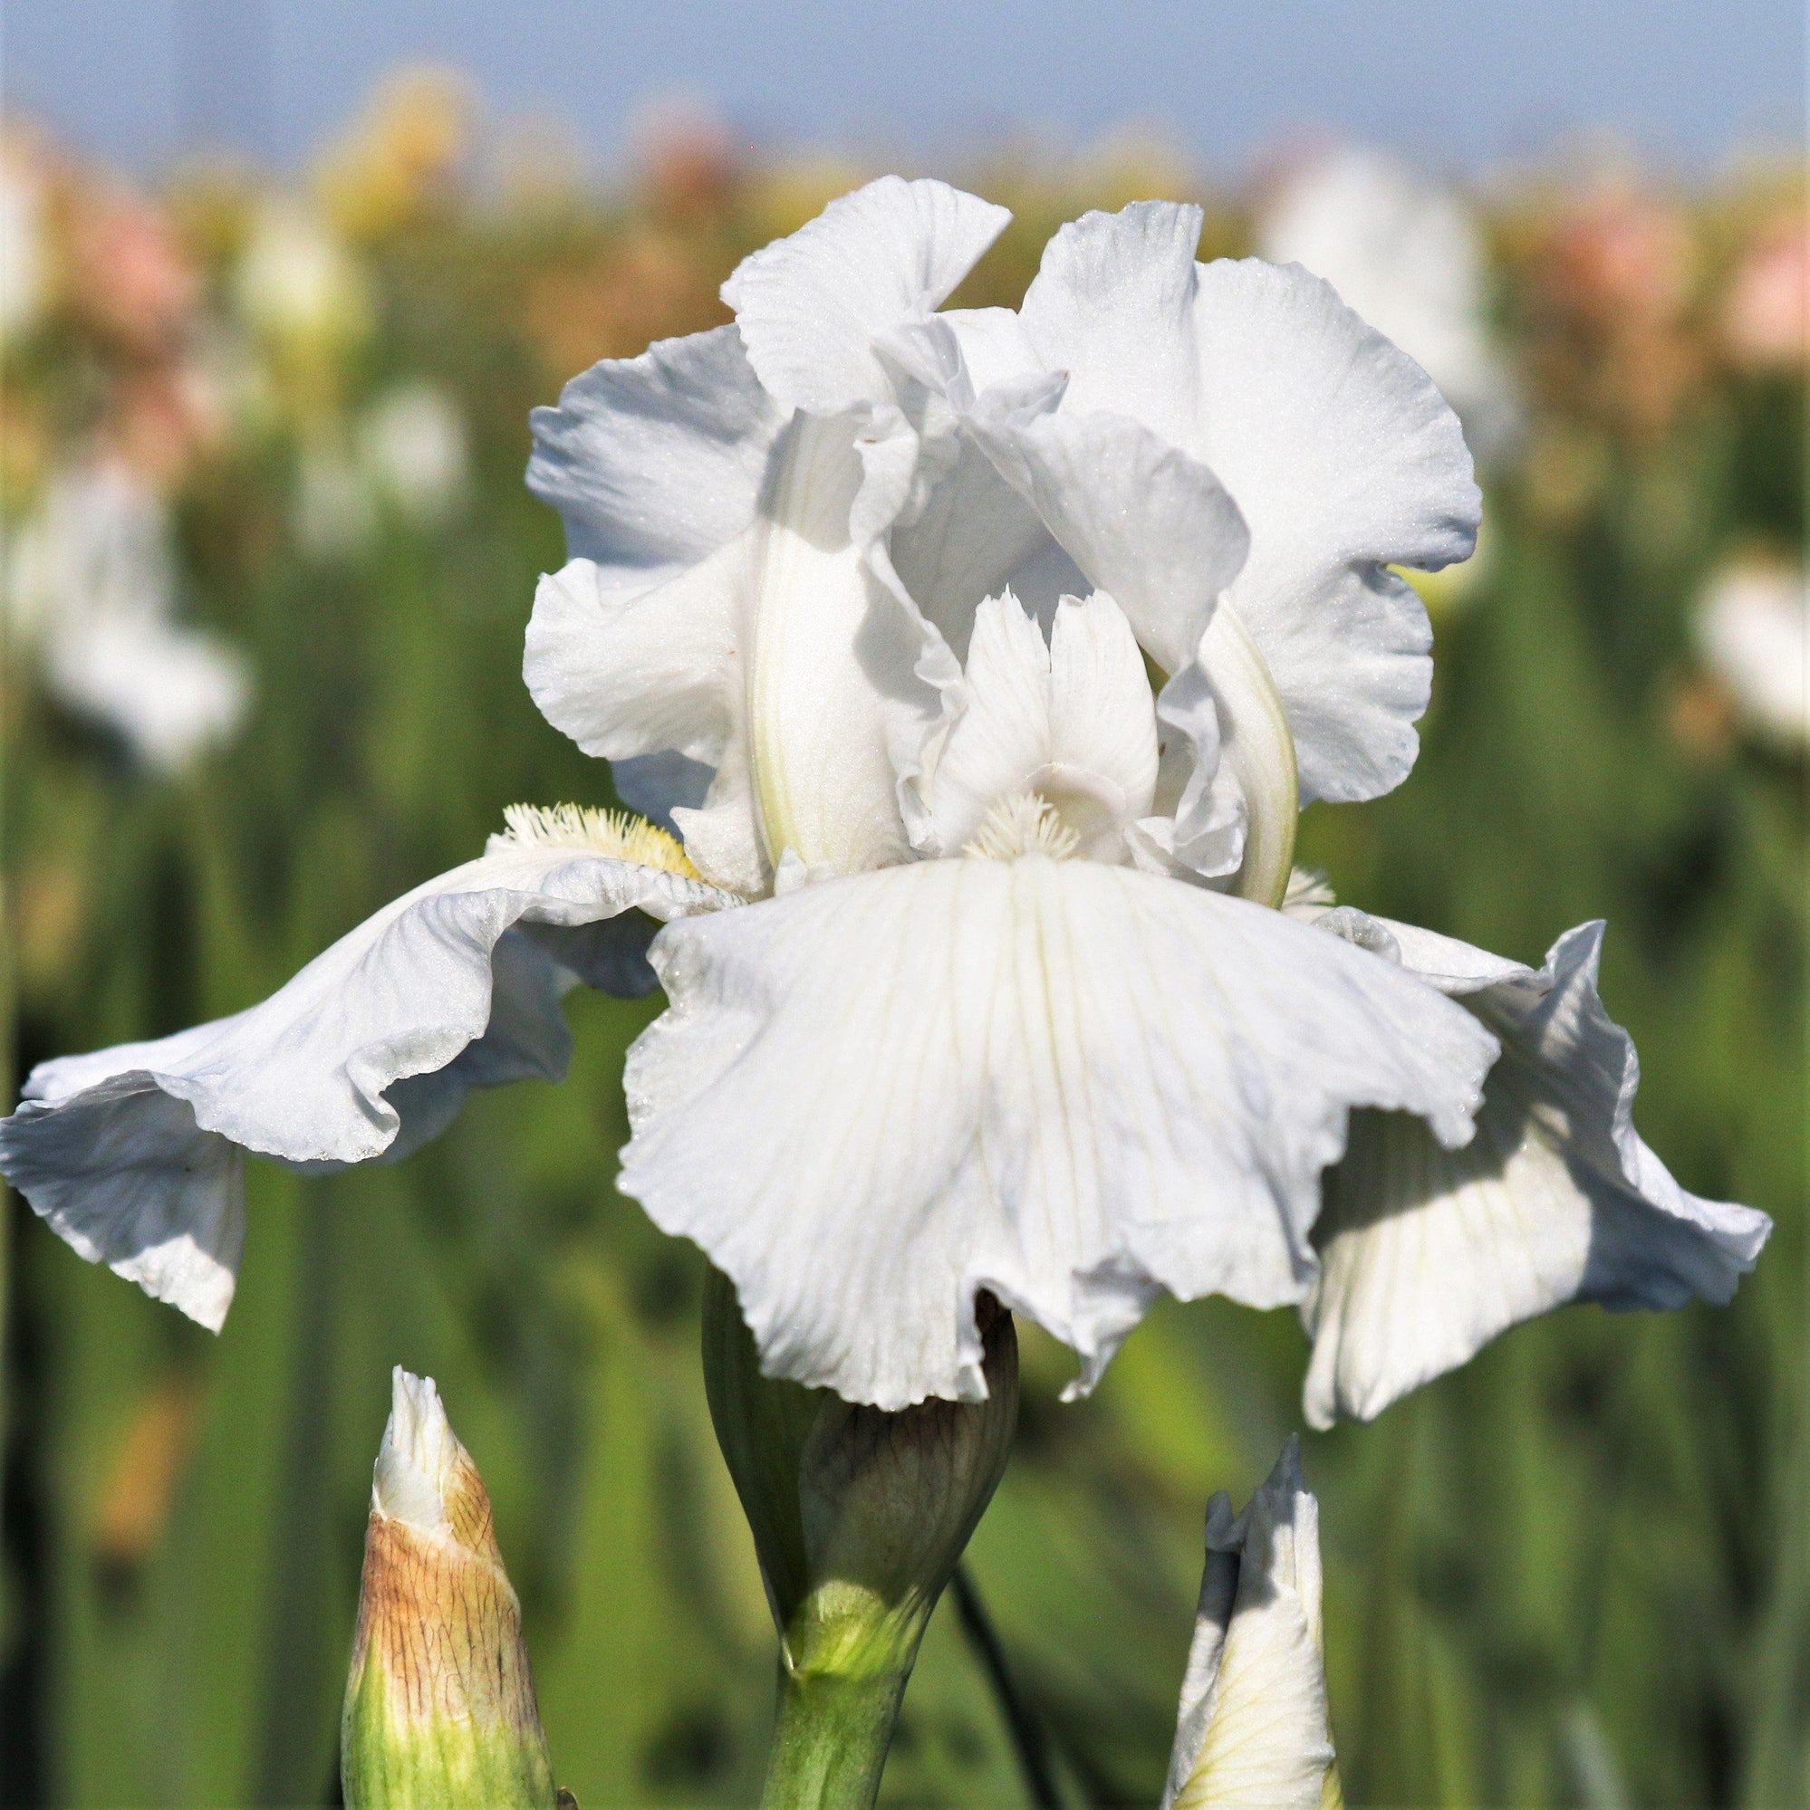
<svg viewBox="0 0 1810 1810">
<path fill-rule="evenodd" d="M 245 657 L 174 621 L 168 521 L 130 467 L 56 476 L 5 572 L 9 624 L 71 710 L 114 728 L 145 766 L 178 771 L 226 740 L 252 695 Z"/>
</svg>

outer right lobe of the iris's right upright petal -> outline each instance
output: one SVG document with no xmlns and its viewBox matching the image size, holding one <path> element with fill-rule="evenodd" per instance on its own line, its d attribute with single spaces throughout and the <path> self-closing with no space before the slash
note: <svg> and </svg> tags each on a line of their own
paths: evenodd
<svg viewBox="0 0 1810 1810">
<path fill-rule="evenodd" d="M 1372 798 L 1413 766 L 1431 630 L 1390 565 L 1469 556 L 1480 500 L 1426 373 L 1299 268 L 1201 266 L 1205 460 L 1250 527 L 1230 590 L 1294 728 L 1305 798 Z"/>
</svg>

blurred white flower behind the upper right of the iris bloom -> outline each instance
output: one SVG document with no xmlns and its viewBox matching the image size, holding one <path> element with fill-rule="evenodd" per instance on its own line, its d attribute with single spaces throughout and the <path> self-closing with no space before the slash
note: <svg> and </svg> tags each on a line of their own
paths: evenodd
<svg viewBox="0 0 1810 1810">
<path fill-rule="evenodd" d="M 1451 188 L 1379 152 L 1333 150 L 1283 181 L 1257 250 L 1324 277 L 1346 308 L 1415 358 L 1478 456 L 1507 447 L 1518 402 L 1489 338 L 1482 233 Z"/>
</svg>

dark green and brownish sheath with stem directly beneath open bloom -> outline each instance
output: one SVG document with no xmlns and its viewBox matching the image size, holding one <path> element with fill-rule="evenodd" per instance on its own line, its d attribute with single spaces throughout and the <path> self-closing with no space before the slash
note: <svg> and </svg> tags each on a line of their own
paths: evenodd
<svg viewBox="0 0 1810 1810">
<path fill-rule="evenodd" d="M 977 1301 L 986 1401 L 886 1412 L 761 1374 L 734 1285 L 705 1294 L 705 1385 L 779 1625 L 768 1805 L 871 1803 L 929 1615 L 1011 1450 L 1018 1338 Z"/>
</svg>

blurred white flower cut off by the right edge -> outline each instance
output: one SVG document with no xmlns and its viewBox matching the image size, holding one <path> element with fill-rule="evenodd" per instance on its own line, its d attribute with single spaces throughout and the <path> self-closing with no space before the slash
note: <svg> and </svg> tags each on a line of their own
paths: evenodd
<svg viewBox="0 0 1810 1810">
<path fill-rule="evenodd" d="M 1810 748 L 1810 588 L 1801 567 L 1738 559 L 1710 579 L 1696 641 L 1754 737 Z"/>
</svg>

